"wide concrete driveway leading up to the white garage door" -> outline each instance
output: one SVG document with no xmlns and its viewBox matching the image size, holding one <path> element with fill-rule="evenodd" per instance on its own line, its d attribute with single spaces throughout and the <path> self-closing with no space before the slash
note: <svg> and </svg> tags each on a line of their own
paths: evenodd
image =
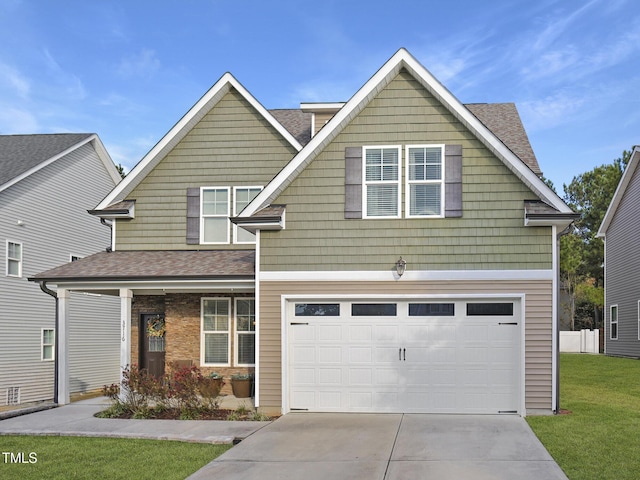
<svg viewBox="0 0 640 480">
<path fill-rule="evenodd" d="M 190 479 L 567 477 L 515 415 L 290 413 Z"/>
</svg>

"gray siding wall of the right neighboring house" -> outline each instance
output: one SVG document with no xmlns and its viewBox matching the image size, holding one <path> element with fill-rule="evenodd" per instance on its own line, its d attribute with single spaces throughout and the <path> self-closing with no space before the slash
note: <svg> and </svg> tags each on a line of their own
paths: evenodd
<svg viewBox="0 0 640 480">
<path fill-rule="evenodd" d="M 640 170 L 636 169 L 622 197 L 606 237 L 605 352 L 640 357 L 638 301 L 640 300 Z M 618 339 L 610 339 L 610 307 L 618 305 Z"/>
</svg>

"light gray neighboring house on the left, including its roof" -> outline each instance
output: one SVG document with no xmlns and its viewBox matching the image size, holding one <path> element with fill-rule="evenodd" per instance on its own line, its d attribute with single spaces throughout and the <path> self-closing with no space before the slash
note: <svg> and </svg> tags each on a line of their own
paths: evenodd
<svg viewBox="0 0 640 480">
<path fill-rule="evenodd" d="M 109 227 L 87 209 L 119 180 L 95 134 L 0 135 L 0 406 L 53 398 L 56 302 L 27 278 L 109 246 Z M 119 378 L 119 304 L 71 295 L 77 393 Z"/>
</svg>

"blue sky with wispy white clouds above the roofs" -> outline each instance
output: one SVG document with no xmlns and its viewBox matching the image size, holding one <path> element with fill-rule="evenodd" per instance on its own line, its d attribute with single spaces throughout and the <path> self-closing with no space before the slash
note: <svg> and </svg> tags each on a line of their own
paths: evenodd
<svg viewBox="0 0 640 480">
<path fill-rule="evenodd" d="M 561 195 L 640 144 L 637 0 L 1 0 L 0 134 L 95 132 L 129 169 L 227 71 L 296 108 L 400 47 L 463 103 L 515 102 Z"/>
</svg>

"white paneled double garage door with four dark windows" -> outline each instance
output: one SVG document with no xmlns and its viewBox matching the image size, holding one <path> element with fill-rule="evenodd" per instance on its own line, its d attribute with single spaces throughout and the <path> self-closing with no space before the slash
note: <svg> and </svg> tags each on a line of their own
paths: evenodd
<svg viewBox="0 0 640 480">
<path fill-rule="evenodd" d="M 289 408 L 519 413 L 521 323 L 513 299 L 291 301 Z"/>
</svg>

